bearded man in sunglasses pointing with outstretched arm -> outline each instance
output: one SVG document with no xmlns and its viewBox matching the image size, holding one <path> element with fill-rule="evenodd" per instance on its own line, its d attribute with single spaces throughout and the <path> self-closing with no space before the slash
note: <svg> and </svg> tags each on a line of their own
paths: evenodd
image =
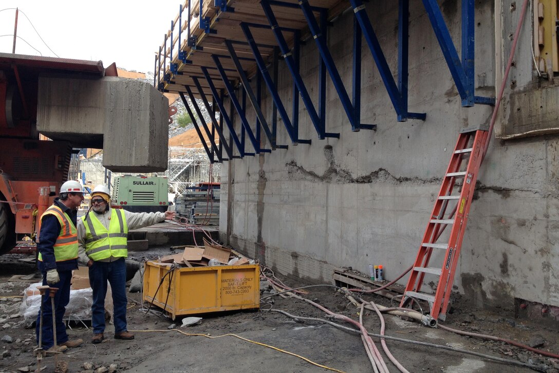
<svg viewBox="0 0 559 373">
<path fill-rule="evenodd" d="M 174 212 L 131 213 L 110 206 L 110 191 L 98 185 L 91 193 L 91 207 L 78 221 L 79 258 L 89 267 L 89 284 L 93 290 L 91 306 L 92 343 L 105 339 L 105 296 L 111 284 L 115 339 L 134 339 L 126 328 L 126 262 L 129 229 L 172 220 Z"/>
</svg>

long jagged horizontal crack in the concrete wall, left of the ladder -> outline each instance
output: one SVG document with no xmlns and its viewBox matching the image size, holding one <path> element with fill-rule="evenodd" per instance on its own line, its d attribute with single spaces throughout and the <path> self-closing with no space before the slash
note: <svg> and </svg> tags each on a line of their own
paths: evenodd
<svg viewBox="0 0 559 373">
<path fill-rule="evenodd" d="M 291 162 L 286 163 L 285 166 L 287 168 L 287 175 L 289 180 L 340 184 L 367 184 L 372 182 L 383 182 L 391 184 L 437 184 L 442 181 L 438 177 L 432 177 L 428 179 L 423 179 L 420 177 L 396 177 L 385 168 L 378 168 L 376 169 L 376 171 L 373 171 L 369 174 L 353 177 L 350 171 L 348 171 L 347 169 L 343 169 L 338 163 L 336 163 L 333 148 L 331 145 L 326 145 L 324 147 L 324 157 L 326 158 L 326 162 L 328 162 L 328 168 L 322 175 L 319 175 L 313 171 L 307 171 L 307 169 L 305 169 L 303 166 L 297 164 L 295 160 L 291 160 Z"/>
</svg>

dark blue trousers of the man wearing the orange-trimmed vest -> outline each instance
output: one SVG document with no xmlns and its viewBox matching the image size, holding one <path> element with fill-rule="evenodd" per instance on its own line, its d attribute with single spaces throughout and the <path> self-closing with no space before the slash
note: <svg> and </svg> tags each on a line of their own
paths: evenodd
<svg viewBox="0 0 559 373">
<path fill-rule="evenodd" d="M 54 295 L 54 308 L 56 319 L 56 344 L 61 344 L 68 341 L 68 334 L 66 334 L 66 325 L 62 321 L 66 306 L 70 301 L 70 280 L 72 280 L 72 271 L 59 271 L 58 276 L 60 281 L 56 284 L 49 285 L 46 283 L 46 272 L 42 273 L 42 284 L 49 285 L 50 287 L 58 287 L 58 291 Z M 42 296 L 42 348 L 48 350 L 54 346 L 53 334 L 53 308 L 52 301 L 49 296 L 49 291 L 45 292 Z M 39 345 L 39 330 L 41 321 L 41 311 L 37 315 L 37 326 L 35 333 L 37 335 L 37 345 Z"/>
</svg>

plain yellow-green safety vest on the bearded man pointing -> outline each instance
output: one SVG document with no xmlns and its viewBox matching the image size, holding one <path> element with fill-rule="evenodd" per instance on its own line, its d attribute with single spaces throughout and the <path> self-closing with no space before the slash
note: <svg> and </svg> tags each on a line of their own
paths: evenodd
<svg viewBox="0 0 559 373">
<path fill-rule="evenodd" d="M 111 209 L 111 222 L 108 230 L 97 219 L 96 214 L 90 212 L 82 216 L 86 228 L 86 254 L 94 261 L 112 257 L 127 257 L 128 226 L 126 217 L 120 209 Z"/>
</svg>

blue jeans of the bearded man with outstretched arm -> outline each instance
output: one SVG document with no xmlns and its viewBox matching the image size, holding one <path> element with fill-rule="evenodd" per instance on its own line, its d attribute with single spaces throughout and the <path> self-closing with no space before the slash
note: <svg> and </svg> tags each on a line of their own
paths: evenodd
<svg viewBox="0 0 559 373">
<path fill-rule="evenodd" d="M 91 306 L 93 333 L 105 332 L 105 296 L 107 281 L 111 284 L 114 307 L 115 333 L 126 331 L 126 262 L 120 258 L 114 262 L 93 262 L 89 267 L 89 285 L 93 289 Z"/>
</svg>

